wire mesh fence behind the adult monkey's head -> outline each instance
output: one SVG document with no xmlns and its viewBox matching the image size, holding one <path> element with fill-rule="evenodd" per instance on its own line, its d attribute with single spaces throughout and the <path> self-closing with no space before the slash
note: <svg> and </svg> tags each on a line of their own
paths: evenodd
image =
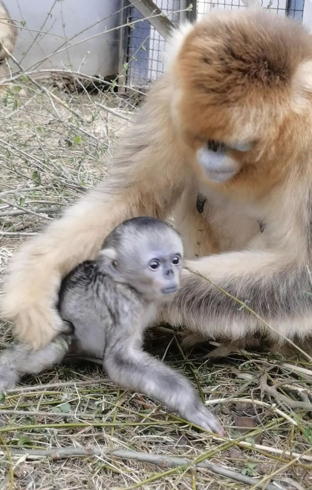
<svg viewBox="0 0 312 490">
<path fill-rule="evenodd" d="M 134 2 L 135 3 L 135 2 Z M 236 10 L 246 8 L 241 0 L 155 0 L 154 3 L 168 15 L 169 20 L 178 25 L 181 20 L 200 19 L 213 9 Z M 264 9 L 302 21 L 304 0 L 261 0 Z M 130 87 L 148 87 L 163 73 L 163 51 L 166 41 L 157 30 L 143 19 L 140 12 L 131 6 L 129 9 L 130 28 L 127 48 L 126 84 Z"/>
</svg>

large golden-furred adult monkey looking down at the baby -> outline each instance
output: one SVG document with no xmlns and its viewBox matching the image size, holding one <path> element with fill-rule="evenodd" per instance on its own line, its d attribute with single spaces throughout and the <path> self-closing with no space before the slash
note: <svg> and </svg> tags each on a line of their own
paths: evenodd
<svg viewBox="0 0 312 490">
<path fill-rule="evenodd" d="M 10 266 L 4 315 L 35 348 L 60 328 L 54 303 L 69 270 L 124 219 L 172 212 L 187 257 L 201 257 L 189 268 L 282 335 L 312 333 L 312 37 L 262 11 L 222 12 L 171 44 L 110 175 Z M 182 282 L 160 319 L 207 338 L 264 328 L 197 275 Z"/>
</svg>

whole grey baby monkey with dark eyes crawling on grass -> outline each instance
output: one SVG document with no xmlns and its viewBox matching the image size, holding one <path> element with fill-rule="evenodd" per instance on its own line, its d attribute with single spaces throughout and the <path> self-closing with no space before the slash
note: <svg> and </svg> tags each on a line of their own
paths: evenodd
<svg viewBox="0 0 312 490">
<path fill-rule="evenodd" d="M 149 217 L 123 221 L 105 239 L 97 260 L 80 264 L 64 278 L 58 301 L 64 332 L 38 351 L 20 343 L 2 352 L 0 389 L 68 354 L 94 356 L 117 385 L 223 435 L 192 383 L 142 350 L 157 306 L 180 286 L 182 262 L 182 240 L 167 223 Z"/>
</svg>

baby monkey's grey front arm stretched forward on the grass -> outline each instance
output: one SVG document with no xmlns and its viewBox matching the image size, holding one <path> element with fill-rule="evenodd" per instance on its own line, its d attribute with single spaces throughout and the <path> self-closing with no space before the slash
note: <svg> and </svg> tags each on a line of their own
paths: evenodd
<svg viewBox="0 0 312 490">
<path fill-rule="evenodd" d="M 144 352 L 142 343 L 137 339 L 135 336 L 125 337 L 124 332 L 117 338 L 115 330 L 103 360 L 103 367 L 110 379 L 164 403 L 186 420 L 223 436 L 222 427 L 201 402 L 192 383 Z"/>
</svg>

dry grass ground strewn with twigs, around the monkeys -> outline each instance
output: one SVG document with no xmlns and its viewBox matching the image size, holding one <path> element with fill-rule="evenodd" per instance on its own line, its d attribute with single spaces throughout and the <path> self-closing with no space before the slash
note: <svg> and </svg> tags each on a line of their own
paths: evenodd
<svg viewBox="0 0 312 490">
<path fill-rule="evenodd" d="M 110 92 L 40 93 L 24 83 L 23 97 L 15 86 L 0 101 L 2 272 L 22 241 L 105 175 L 127 122 L 98 103 L 126 118 L 135 110 Z M 0 328 L 5 347 L 11 326 Z M 61 366 L 0 395 L 0 490 L 312 489 L 312 364 L 245 351 L 203 362 L 203 350 L 183 352 L 170 330 L 146 343 L 194 381 L 226 438 L 117 388 L 93 363 Z"/>
</svg>

